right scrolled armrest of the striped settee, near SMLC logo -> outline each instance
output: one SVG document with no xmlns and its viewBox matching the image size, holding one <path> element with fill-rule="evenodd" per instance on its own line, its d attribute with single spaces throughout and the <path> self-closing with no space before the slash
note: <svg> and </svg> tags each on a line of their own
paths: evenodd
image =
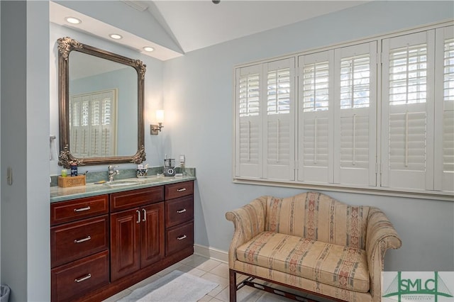
<svg viewBox="0 0 454 302">
<path fill-rule="evenodd" d="M 384 269 L 384 253 L 388 249 L 398 249 L 402 240 L 387 216 L 379 209 L 371 207 L 367 218 L 366 233 L 367 266 L 370 275 L 372 301 L 380 301 L 381 279 Z"/>
</svg>

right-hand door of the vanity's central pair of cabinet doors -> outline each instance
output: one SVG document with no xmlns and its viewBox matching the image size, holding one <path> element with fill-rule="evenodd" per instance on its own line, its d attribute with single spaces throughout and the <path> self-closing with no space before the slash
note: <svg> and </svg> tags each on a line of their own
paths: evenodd
<svg viewBox="0 0 454 302">
<path fill-rule="evenodd" d="M 140 208 L 140 267 L 146 267 L 164 257 L 164 203 Z"/>
</svg>

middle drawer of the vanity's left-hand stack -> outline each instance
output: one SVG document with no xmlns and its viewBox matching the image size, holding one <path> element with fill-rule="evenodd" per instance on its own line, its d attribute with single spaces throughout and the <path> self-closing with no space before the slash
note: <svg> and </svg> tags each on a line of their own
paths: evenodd
<svg viewBox="0 0 454 302">
<path fill-rule="evenodd" d="M 92 255 L 109 247 L 109 216 L 50 228 L 51 267 Z"/>
</svg>

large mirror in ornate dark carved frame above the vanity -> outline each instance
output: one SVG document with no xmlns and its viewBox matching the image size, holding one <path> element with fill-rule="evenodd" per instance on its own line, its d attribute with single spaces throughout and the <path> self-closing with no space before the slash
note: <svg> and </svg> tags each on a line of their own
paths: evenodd
<svg viewBox="0 0 454 302">
<path fill-rule="evenodd" d="M 57 43 L 58 164 L 143 162 L 143 62 L 68 37 Z"/>
</svg>

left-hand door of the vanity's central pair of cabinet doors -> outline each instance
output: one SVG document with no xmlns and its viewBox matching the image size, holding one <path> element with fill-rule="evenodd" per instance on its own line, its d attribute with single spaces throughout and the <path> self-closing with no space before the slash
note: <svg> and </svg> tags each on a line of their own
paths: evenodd
<svg viewBox="0 0 454 302">
<path fill-rule="evenodd" d="M 140 269 L 140 208 L 111 214 L 111 281 Z"/>
</svg>

